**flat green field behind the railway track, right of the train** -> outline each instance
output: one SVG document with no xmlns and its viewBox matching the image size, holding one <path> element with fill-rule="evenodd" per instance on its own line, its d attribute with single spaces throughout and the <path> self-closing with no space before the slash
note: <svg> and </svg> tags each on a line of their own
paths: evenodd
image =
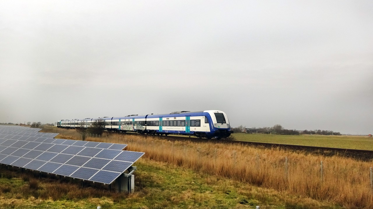
<svg viewBox="0 0 373 209">
<path fill-rule="evenodd" d="M 243 133 L 233 134 L 233 136 L 236 141 L 373 150 L 373 138 L 368 136 L 272 135 Z"/>
</svg>

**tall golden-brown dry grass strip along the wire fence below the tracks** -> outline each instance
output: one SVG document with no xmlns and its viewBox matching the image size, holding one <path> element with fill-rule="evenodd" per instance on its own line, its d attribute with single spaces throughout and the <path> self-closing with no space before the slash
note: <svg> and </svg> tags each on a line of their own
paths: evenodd
<svg viewBox="0 0 373 209">
<path fill-rule="evenodd" d="M 329 200 L 347 208 L 373 208 L 370 162 L 188 139 L 175 142 L 151 136 L 145 139 L 141 135 L 110 134 L 87 140 L 128 144 L 126 149 L 145 152 L 143 157 L 151 160 L 302 197 Z M 323 161 L 323 175 L 320 161 Z"/>
</svg>

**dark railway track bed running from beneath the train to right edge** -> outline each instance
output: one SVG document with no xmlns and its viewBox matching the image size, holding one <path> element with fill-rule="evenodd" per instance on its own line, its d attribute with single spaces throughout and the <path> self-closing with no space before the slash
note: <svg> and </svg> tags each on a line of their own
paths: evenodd
<svg viewBox="0 0 373 209">
<path fill-rule="evenodd" d="M 153 135 L 152 135 L 153 136 Z M 188 138 L 185 136 L 159 136 L 162 139 L 167 140 L 188 140 L 199 141 L 199 142 L 214 142 L 214 143 L 226 143 L 226 144 L 242 144 L 247 146 L 262 147 L 262 148 L 280 148 L 292 151 L 304 151 L 307 153 L 318 154 L 323 156 L 334 156 L 338 155 L 341 157 L 354 158 L 356 160 L 371 161 L 373 160 L 372 150 L 363 149 L 345 149 L 345 148 L 332 148 L 332 147 L 314 147 L 314 146 L 303 146 L 303 145 L 291 145 L 291 144 L 274 144 L 264 142 L 247 142 L 247 141 L 232 141 L 224 139 L 199 139 L 199 138 Z"/>
</svg>

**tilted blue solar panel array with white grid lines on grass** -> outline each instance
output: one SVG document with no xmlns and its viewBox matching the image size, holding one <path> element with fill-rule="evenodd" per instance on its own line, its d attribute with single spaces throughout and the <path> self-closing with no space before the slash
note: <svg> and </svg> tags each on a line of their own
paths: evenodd
<svg viewBox="0 0 373 209">
<path fill-rule="evenodd" d="M 111 184 L 144 155 L 123 151 L 126 144 L 54 139 L 36 136 L 40 129 L 15 127 L 0 126 L 1 164 Z"/>
</svg>

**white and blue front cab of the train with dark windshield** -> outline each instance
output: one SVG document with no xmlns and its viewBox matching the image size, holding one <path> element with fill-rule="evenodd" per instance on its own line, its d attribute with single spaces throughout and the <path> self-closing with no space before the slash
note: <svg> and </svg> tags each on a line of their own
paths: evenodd
<svg viewBox="0 0 373 209">
<path fill-rule="evenodd" d="M 210 125 L 210 132 L 206 133 L 207 138 L 226 138 L 231 135 L 231 126 L 225 112 L 206 110 L 204 115 L 209 119 Z"/>
</svg>

